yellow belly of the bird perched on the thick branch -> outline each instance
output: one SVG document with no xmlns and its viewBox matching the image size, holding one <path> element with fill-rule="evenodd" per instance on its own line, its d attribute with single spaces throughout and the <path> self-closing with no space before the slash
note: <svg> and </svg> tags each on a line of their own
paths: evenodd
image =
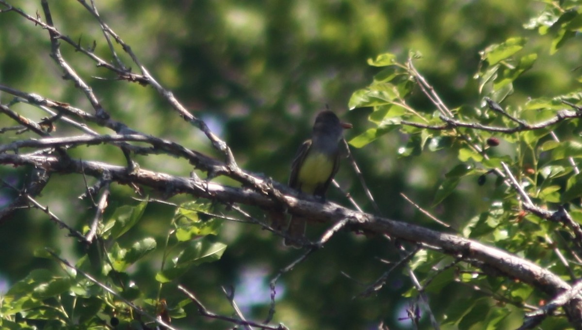
<svg viewBox="0 0 582 330">
<path fill-rule="evenodd" d="M 320 186 L 329 179 L 333 171 L 333 159 L 324 153 L 311 152 L 303 160 L 303 166 L 299 170 L 299 184 L 301 191 L 314 193 L 317 186 Z"/>
</svg>

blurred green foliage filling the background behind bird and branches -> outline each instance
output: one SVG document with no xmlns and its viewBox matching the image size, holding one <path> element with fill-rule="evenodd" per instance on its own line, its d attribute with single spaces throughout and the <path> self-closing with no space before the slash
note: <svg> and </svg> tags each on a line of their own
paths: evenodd
<svg viewBox="0 0 582 330">
<path fill-rule="evenodd" d="M 509 109 L 516 113 L 523 109 L 519 105 L 530 98 L 540 101 L 537 107 L 528 103 L 532 107 L 530 110 L 542 107 L 551 110 L 551 98 L 578 91 L 578 77 L 572 71 L 580 65 L 575 20 L 579 16 L 573 9 L 573 18 L 567 20 L 562 16 L 563 12 L 551 6 L 546 8 L 544 2 L 547 1 L 103 0 L 96 3 L 104 21 L 132 46 L 133 52 L 152 75 L 226 139 L 243 168 L 285 182 L 293 154 L 301 141 L 308 137 L 314 114 L 328 104 L 340 117 L 354 124 L 355 128 L 347 138 L 360 138 L 355 141 L 359 141 L 357 146 L 363 148 L 353 149 L 354 157 L 384 216 L 442 229 L 404 202 L 399 196 L 404 193 L 435 216 L 459 228 L 463 234 L 496 243 L 512 252 L 521 252 L 531 260 L 543 263 L 544 249 L 548 247 L 530 239 L 544 238 L 546 232 L 554 230 L 555 226 L 528 216 L 528 221 L 515 221 L 513 227 L 500 228 L 501 221 L 517 218 L 517 204 L 513 196 L 513 199 L 504 200 L 503 205 L 492 205 L 492 200 L 508 195 L 495 182 L 477 184 L 483 173 L 482 167 L 475 166 L 483 164 L 475 159 L 477 156 L 462 146 L 452 147 L 454 141 L 451 137 L 437 139 L 423 136 L 418 131 L 402 132 L 396 127 L 386 127 L 384 124 L 398 124 L 398 121 L 388 123 L 386 120 L 391 116 L 402 119 L 402 109 L 375 108 L 372 112 L 370 106 L 378 104 L 366 104 L 363 99 L 354 101 L 354 98 L 364 95 L 360 91 L 371 88 L 373 79 L 381 79 L 382 74 L 386 78 L 386 71 L 378 67 L 384 67 L 388 62 L 382 61 L 395 59 L 402 63 L 409 51 L 414 51 L 421 54 L 421 58 L 414 61 L 417 69 L 435 87 L 443 102 L 457 113 L 466 115 L 466 119 L 506 124 L 503 119 L 487 117 L 487 114 L 475 110 L 484 109 L 482 97 L 491 96 L 496 91 L 501 92 L 494 100 L 505 100 Z M 571 5 L 568 1 L 563 2 L 564 8 Z M 22 6 L 32 16 L 42 12 L 40 1 L 14 4 Z M 112 60 L 98 23 L 82 6 L 72 1 L 54 1 L 50 5 L 55 24 L 62 33 L 79 40 L 84 46 L 90 46 L 95 40 L 95 53 Z M 62 72 L 49 58 L 47 31 L 15 13 L 1 13 L 0 17 L 0 82 L 90 112 L 84 95 L 70 81 L 62 80 Z M 547 28 L 548 22 L 553 23 L 560 17 L 564 21 L 561 26 Z M 526 23 L 527 28 L 524 28 Z M 135 130 L 218 156 L 204 135 L 184 123 L 151 87 L 118 81 L 72 48 L 63 46 L 62 49 L 63 56 L 92 85 L 105 110 L 115 120 L 127 123 Z M 116 51 L 125 63 L 132 63 L 117 45 Z M 386 52 L 395 55 L 377 58 Z M 499 66 L 492 70 L 500 60 L 516 53 L 520 56 L 514 62 L 519 63 L 516 69 Z M 368 59 L 372 60 L 368 62 Z M 132 64 L 132 69 L 139 71 L 136 64 Z M 503 81 L 503 78 L 510 81 Z M 503 89 L 509 83 L 512 94 Z M 416 85 L 405 81 L 397 81 L 395 85 L 406 95 L 407 104 L 423 116 L 432 116 L 434 106 Z M 548 101 L 541 102 L 542 98 Z M 10 99 L 10 95 L 0 94 L 3 104 Z M 367 107 L 347 111 L 348 107 L 360 106 Z M 16 105 L 15 109 L 34 120 L 46 116 L 26 105 Z M 391 116 L 389 111 L 392 111 Z M 527 120 L 542 120 L 548 115 L 543 111 L 523 114 Z M 6 119 L 2 120 L 6 123 Z M 560 132 L 564 132 L 566 138 L 574 139 L 576 132 L 579 133 L 577 121 L 565 126 L 560 127 Z M 111 134 L 104 128 L 97 130 Z M 72 133 L 78 134 L 66 126 L 55 132 L 56 135 Z M 29 135 L 25 133 L 19 137 Z M 485 141 L 489 137 L 490 134 L 481 134 L 478 138 Z M 539 171 L 545 168 L 543 173 L 548 178 L 569 173 L 563 162 L 540 160 L 539 153 L 536 153 L 539 138 L 528 133 L 517 138 L 505 136 L 502 145 L 496 149 L 501 151 L 491 150 L 491 153 L 499 156 L 498 160 L 518 158 L 513 163 L 522 167 L 530 166 Z M 12 137 L 0 137 L 2 144 L 10 139 Z M 430 139 L 442 144 L 435 142 L 424 146 Z M 541 142 L 545 141 L 548 140 Z M 515 145 L 526 151 L 529 148 L 531 153 L 516 150 Z M 562 155 L 563 159 L 564 155 L 573 155 L 579 150 L 574 144 L 570 146 L 567 149 L 567 146 L 545 144 L 547 150 L 552 150 L 552 155 L 545 157 L 559 159 Z M 432 148 L 430 151 L 434 152 L 421 152 L 425 148 Z M 79 148 L 71 155 L 84 160 L 124 164 L 122 153 L 111 146 Z M 142 168 L 171 174 L 187 176 L 191 171 L 186 162 L 167 156 L 137 156 L 136 161 Z M 544 168 L 540 165 L 542 163 Z M 498 163 L 489 165 L 493 167 Z M 0 175 L 15 186 L 23 185 L 26 173 L 26 168 L 0 168 Z M 552 185 L 544 186 L 541 182 L 532 185 L 539 188 L 538 200 L 560 202 L 556 185 L 566 187 L 572 198 L 577 198 L 580 195 L 577 181 L 562 178 L 562 181 L 551 181 Z M 337 180 L 364 210 L 372 211 L 347 164 L 343 164 Z M 535 189 L 531 190 L 533 195 Z M 59 175 L 51 178 L 39 200 L 69 225 L 83 228 L 94 216 L 90 203 L 77 199 L 84 191 L 80 175 Z M 11 189 L 0 189 L 3 203 L 14 198 L 13 194 Z M 122 213 L 123 209 L 119 207 L 138 205 L 132 196 L 134 193 L 129 187 L 112 185 L 104 218 L 113 219 Z M 330 192 L 328 199 L 349 205 L 338 191 Z M 172 199 L 176 203 L 188 200 L 188 196 Z M 228 211 L 221 206 L 208 207 L 214 212 Z M 260 210 L 247 209 L 258 218 L 264 217 Z M 193 304 L 184 306 L 184 296 L 173 286 L 176 282 L 196 292 L 210 309 L 227 315 L 232 313 L 232 309 L 221 286 L 233 285 L 239 293 L 235 293 L 235 300 L 247 318 L 264 319 L 269 309 L 269 279 L 298 254 L 282 247 L 279 238 L 257 226 L 225 221 L 216 227 L 193 228 L 189 221 L 176 220 L 175 212 L 175 207 L 152 202 L 145 208 L 143 217 L 134 218 L 136 223 L 115 222 L 120 227 L 109 229 L 112 233 L 117 232 L 119 235 L 115 236 L 119 239 L 115 245 L 109 246 L 112 249 L 110 257 L 119 261 L 119 268 L 115 270 L 123 273 L 110 276 L 118 276 L 116 279 L 120 282 L 133 282 L 140 289 L 138 299 L 166 299 L 169 309 L 175 312 L 174 317 L 183 316 L 185 311 L 186 319 L 174 320 L 178 327 L 223 329 L 228 325 L 198 317 Z M 168 241 L 173 229 L 179 230 L 179 234 L 176 234 L 175 241 Z M 315 237 L 323 229 L 311 226 L 308 235 Z M 204 233 L 200 234 L 198 230 Z M 211 238 L 211 235 L 204 246 L 198 242 L 188 247 L 191 253 L 188 267 L 185 264 L 178 267 L 179 258 L 171 259 L 165 253 L 169 243 L 178 246 L 182 242 L 180 237 L 208 234 L 218 234 L 218 237 Z M 144 241 L 145 238 L 151 239 Z M 68 282 L 58 262 L 45 259 L 46 256 L 36 257 L 33 251 L 49 247 L 72 261 L 86 253 L 40 211 L 16 213 L 0 228 L 0 242 L 0 279 L 6 285 L 29 279 L 29 286 L 23 286 L 19 292 L 45 288 L 34 284 L 44 284 L 55 273 L 61 274 L 58 281 L 46 288 L 50 295 L 47 291 L 37 292 L 34 299 L 43 295 L 54 297 L 66 292 L 73 284 Z M 226 250 L 221 249 L 222 245 L 228 245 Z M 201 264 L 191 261 L 204 254 L 201 253 L 204 249 L 220 250 L 219 256 L 210 253 L 217 256 L 215 259 L 220 259 Z M 425 262 L 420 268 L 413 268 L 423 275 L 430 274 L 430 266 L 450 262 L 449 257 L 435 252 L 418 256 L 421 257 Z M 292 329 L 376 329 L 381 321 L 391 329 L 408 329 L 410 321 L 399 320 L 399 317 L 406 317 L 405 310 L 416 293 L 411 289 L 406 272 L 403 275 L 393 272 L 376 295 L 352 299 L 365 289 L 365 284 L 375 281 L 386 271 L 386 264 L 381 260 L 396 261 L 398 258 L 398 253 L 384 238 L 340 232 L 325 249 L 311 255 L 282 277 L 274 320 Z M 139 263 L 134 263 L 137 260 Z M 179 271 L 160 271 L 162 260 L 174 263 Z M 544 266 L 561 274 L 563 267 L 553 261 L 551 259 Z M 80 260 L 79 266 L 88 267 L 87 262 Z M 127 276 L 130 279 L 120 279 Z M 433 313 L 438 317 L 446 315 L 448 325 L 443 325 L 443 329 L 519 326 L 523 318 L 520 309 L 510 304 L 494 306 L 495 301 L 487 294 L 473 290 L 470 285 L 455 284 L 455 276 L 452 272 L 443 272 L 427 289 Z M 166 284 L 167 281 L 171 282 Z M 512 298 L 530 304 L 543 298 L 540 293 L 531 292 L 531 288 L 516 288 L 519 284 L 509 279 L 475 279 L 463 274 L 459 282 L 471 285 L 479 282 L 494 293 L 512 288 Z M 89 287 L 80 285 L 76 290 L 80 292 Z M 76 308 L 83 306 L 83 309 L 77 314 L 97 315 L 102 302 L 95 300 L 90 293 L 86 296 L 79 293 L 79 297 L 82 299 Z M 63 305 L 73 306 L 71 299 L 63 297 Z M 145 303 L 148 301 L 155 310 L 155 303 L 150 300 Z M 112 307 L 108 308 L 111 314 L 98 314 L 101 320 L 109 321 L 113 316 Z M 45 318 L 62 316 L 60 311 L 52 310 L 52 313 L 58 315 L 47 314 Z M 421 324 L 428 327 L 428 317 L 424 311 L 421 314 Z M 544 329 L 565 327 L 560 321 L 546 323 Z"/>
</svg>

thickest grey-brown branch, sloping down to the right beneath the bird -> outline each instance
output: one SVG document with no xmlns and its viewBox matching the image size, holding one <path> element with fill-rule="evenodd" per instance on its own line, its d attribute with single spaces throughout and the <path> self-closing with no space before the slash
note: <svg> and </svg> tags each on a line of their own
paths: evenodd
<svg viewBox="0 0 582 330">
<path fill-rule="evenodd" d="M 111 180 L 119 184 L 143 185 L 164 193 L 187 193 L 198 198 L 223 203 L 243 203 L 266 210 L 276 206 L 276 202 L 269 196 L 254 189 L 234 188 L 215 182 L 207 182 L 200 178 L 177 177 L 141 168 L 128 173 L 126 167 L 122 166 L 81 160 L 63 162 L 56 156 L 47 155 L 3 154 L 0 155 L 0 164 L 43 166 L 51 173 L 84 172 L 93 177 L 101 177 L 104 171 L 108 171 L 111 174 Z M 258 177 L 255 179 L 262 180 Z M 489 269 L 495 269 L 500 274 L 520 279 L 520 281 L 533 285 L 549 295 L 556 295 L 562 290 L 570 288 L 570 285 L 557 275 L 531 261 L 471 239 L 353 211 L 331 202 L 320 203 L 316 199 L 306 196 L 297 198 L 293 189 L 290 188 L 283 187 L 281 192 L 285 194 L 283 198 L 290 212 L 309 217 L 313 221 L 335 222 L 338 219 L 346 218 L 350 225 L 357 229 L 386 234 L 405 241 L 423 243 L 425 247 L 439 250 L 451 256 L 462 257 L 464 261 L 477 266 L 486 265 Z"/>
</svg>

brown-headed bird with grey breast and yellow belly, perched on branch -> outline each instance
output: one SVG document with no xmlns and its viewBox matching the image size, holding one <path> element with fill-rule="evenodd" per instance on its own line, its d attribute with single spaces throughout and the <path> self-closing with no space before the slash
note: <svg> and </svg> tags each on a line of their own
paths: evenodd
<svg viewBox="0 0 582 330">
<path fill-rule="evenodd" d="M 339 141 L 343 129 L 352 124 L 342 123 L 335 113 L 326 110 L 317 114 L 311 139 L 303 142 L 293 159 L 289 186 L 322 200 L 339 168 Z M 300 247 L 305 235 L 306 218 L 292 216 L 285 245 Z"/>
</svg>

